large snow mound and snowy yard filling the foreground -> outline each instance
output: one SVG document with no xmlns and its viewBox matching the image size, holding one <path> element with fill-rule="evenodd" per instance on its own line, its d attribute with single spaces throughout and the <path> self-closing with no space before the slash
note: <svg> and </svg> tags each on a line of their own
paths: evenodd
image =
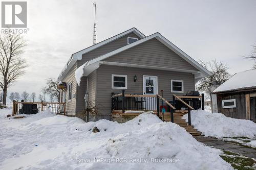
<svg viewBox="0 0 256 170">
<path fill-rule="evenodd" d="M 48 111 L 4 118 L 8 112 L 0 110 L 0 169 L 232 169 L 220 150 L 153 114 L 118 124 Z"/>
</svg>

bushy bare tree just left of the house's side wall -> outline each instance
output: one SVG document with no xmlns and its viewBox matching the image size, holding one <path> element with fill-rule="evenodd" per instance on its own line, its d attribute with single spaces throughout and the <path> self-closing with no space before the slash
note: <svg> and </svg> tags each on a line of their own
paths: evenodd
<svg viewBox="0 0 256 170">
<path fill-rule="evenodd" d="M 42 92 L 44 94 L 48 94 L 50 99 L 53 100 L 54 98 L 57 101 L 60 101 L 60 90 L 57 88 L 57 81 L 54 78 L 49 78 L 46 81 L 46 86 L 42 88 Z"/>
</svg>

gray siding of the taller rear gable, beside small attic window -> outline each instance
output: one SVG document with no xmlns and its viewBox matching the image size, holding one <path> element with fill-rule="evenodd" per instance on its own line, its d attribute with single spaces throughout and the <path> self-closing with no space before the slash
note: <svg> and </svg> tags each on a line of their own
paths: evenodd
<svg viewBox="0 0 256 170">
<path fill-rule="evenodd" d="M 108 44 L 102 45 L 101 47 L 98 47 L 97 49 L 95 49 L 89 53 L 83 54 L 82 60 L 78 61 L 78 67 L 91 59 L 102 56 L 106 53 L 110 53 L 114 50 L 117 50 L 118 48 L 121 48 L 121 47 L 127 45 L 127 37 L 135 37 L 135 38 L 138 38 L 138 40 L 140 39 L 136 34 L 130 33 L 130 34 L 120 37 Z"/>
</svg>

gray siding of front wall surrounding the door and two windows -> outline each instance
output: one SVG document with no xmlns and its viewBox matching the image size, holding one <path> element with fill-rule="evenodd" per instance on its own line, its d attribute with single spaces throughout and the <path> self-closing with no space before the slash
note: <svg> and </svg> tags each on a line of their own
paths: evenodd
<svg viewBox="0 0 256 170">
<path fill-rule="evenodd" d="M 172 94 L 185 94 L 187 91 L 195 90 L 194 75 L 190 73 L 101 65 L 97 69 L 97 104 L 100 105 L 101 114 L 111 113 L 111 92 L 121 93 L 122 91 L 122 89 L 112 89 L 112 74 L 127 75 L 125 93 L 143 94 L 143 75 L 158 77 L 158 93 L 160 94 L 163 90 L 164 98 L 168 101 L 172 100 Z M 134 82 L 135 75 L 138 78 L 136 82 Z M 184 81 L 184 93 L 170 92 L 170 80 L 172 79 Z"/>
</svg>

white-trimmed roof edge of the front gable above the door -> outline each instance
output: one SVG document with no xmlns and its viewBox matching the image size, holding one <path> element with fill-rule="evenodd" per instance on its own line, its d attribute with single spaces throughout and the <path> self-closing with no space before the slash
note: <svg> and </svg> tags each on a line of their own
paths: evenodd
<svg viewBox="0 0 256 170">
<path fill-rule="evenodd" d="M 183 58 L 185 61 L 187 61 L 188 63 L 190 63 L 191 65 L 193 65 L 195 68 L 197 68 L 199 71 L 196 70 L 186 70 L 186 72 L 200 72 L 200 75 L 198 76 L 199 78 L 205 77 L 205 76 L 209 76 L 210 72 L 204 68 L 201 64 L 199 64 L 197 61 L 195 61 L 193 58 L 189 57 L 186 53 L 184 53 L 182 50 L 180 50 L 180 48 L 178 48 L 176 45 L 174 45 L 172 42 L 170 42 L 169 40 L 167 40 L 164 36 L 162 36 L 160 33 L 155 33 L 152 34 L 150 36 L 147 36 L 143 39 L 140 39 L 136 42 L 133 42 L 131 44 L 127 44 L 121 48 L 118 48 L 117 50 L 114 50 L 110 53 L 104 54 L 102 56 L 99 56 L 95 59 L 92 59 L 90 61 L 88 61 L 86 64 L 83 64 L 82 66 L 80 66 L 78 69 L 84 69 L 84 70 L 80 70 L 79 72 L 83 72 L 84 76 L 88 76 L 93 70 L 97 69 L 99 67 L 99 65 L 101 64 L 100 62 L 106 58 L 109 58 L 113 55 L 116 55 L 118 53 L 121 53 L 129 48 L 132 48 L 136 45 L 139 45 L 147 40 L 156 38 L 157 40 L 159 40 L 161 43 L 163 43 L 165 46 L 167 46 L 170 50 L 174 51 L 176 54 L 178 54 L 181 58 Z M 127 64 L 126 64 L 127 65 Z M 135 64 L 133 65 L 135 66 Z M 155 68 L 157 69 L 157 68 Z M 158 68 L 160 69 L 160 68 Z M 167 69 L 167 68 L 166 68 Z M 176 71 L 181 71 L 181 70 L 176 70 Z M 201 74 L 202 72 L 202 74 Z"/>
</svg>

